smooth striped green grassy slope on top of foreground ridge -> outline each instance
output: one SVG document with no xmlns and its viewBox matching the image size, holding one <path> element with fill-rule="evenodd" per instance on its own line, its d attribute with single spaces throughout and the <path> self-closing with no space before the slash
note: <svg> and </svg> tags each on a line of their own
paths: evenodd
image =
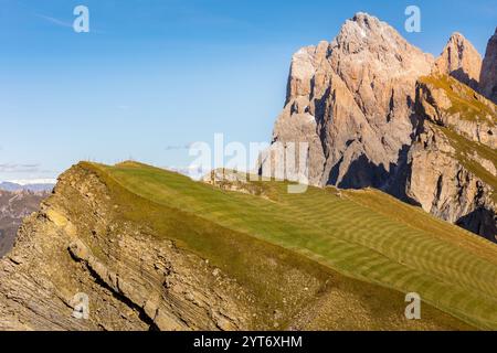
<svg viewBox="0 0 497 353">
<path fill-rule="evenodd" d="M 472 325 L 497 329 L 497 247 L 380 192 L 338 195 L 334 189 L 309 188 L 304 194 L 288 194 L 286 183 L 268 182 L 263 185 L 267 200 L 138 163 L 85 167 L 170 213 L 282 246 L 367 284 L 416 291 L 425 302 Z M 221 252 L 205 236 L 208 229 L 187 231 L 188 225 L 170 221 L 176 220 L 171 214 L 147 212 L 144 208 L 139 218 L 148 217 L 155 227 L 176 227 L 184 246 L 213 256 Z M 231 259 L 214 260 L 239 266 L 232 271 L 243 274 L 250 266 L 237 261 L 236 242 Z"/>
</svg>

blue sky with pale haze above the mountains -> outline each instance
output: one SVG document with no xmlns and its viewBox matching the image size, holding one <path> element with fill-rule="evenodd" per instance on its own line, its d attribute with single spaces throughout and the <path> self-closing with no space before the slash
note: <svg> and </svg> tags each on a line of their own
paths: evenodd
<svg viewBox="0 0 497 353">
<path fill-rule="evenodd" d="M 73 9 L 89 9 L 75 33 Z M 422 11 L 405 33 L 404 9 Z M 78 160 L 186 167 L 192 141 L 268 141 L 292 54 L 366 11 L 438 54 L 454 31 L 484 54 L 495 0 L 0 0 L 0 180 Z"/>
</svg>

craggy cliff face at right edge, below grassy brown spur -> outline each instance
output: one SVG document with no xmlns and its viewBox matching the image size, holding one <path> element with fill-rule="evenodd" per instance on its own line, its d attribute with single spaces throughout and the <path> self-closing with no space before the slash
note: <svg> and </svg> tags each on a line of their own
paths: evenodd
<svg viewBox="0 0 497 353">
<path fill-rule="evenodd" d="M 494 190 L 454 154 L 444 133 L 426 121 L 410 151 L 406 193 L 424 211 L 497 242 Z"/>
</svg>

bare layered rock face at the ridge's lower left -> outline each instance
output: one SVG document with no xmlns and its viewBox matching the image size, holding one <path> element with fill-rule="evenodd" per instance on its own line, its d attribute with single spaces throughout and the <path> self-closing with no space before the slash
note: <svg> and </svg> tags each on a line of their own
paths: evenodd
<svg viewBox="0 0 497 353">
<path fill-rule="evenodd" d="M 78 167 L 0 260 L 0 330 L 234 330 L 244 289 L 142 225 L 117 216 L 108 190 Z M 76 293 L 89 319 L 72 317 Z M 239 299 L 236 299 L 239 298 Z"/>
</svg>

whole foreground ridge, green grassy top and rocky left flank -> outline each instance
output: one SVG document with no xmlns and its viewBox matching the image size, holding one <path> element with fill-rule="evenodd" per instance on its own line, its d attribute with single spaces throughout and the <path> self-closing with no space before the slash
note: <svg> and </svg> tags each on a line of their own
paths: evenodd
<svg viewBox="0 0 497 353">
<path fill-rule="evenodd" d="M 482 317 L 482 312 L 488 312 L 485 306 L 491 306 L 490 297 L 485 295 L 491 288 L 482 287 L 479 281 L 487 280 L 488 274 L 479 271 L 497 268 L 497 264 L 493 265 L 496 250 L 487 242 L 411 206 L 399 207 L 398 201 L 383 199 L 376 191 L 343 191 L 339 195 L 334 190 L 311 189 L 308 195 L 292 196 L 285 192 L 286 183 L 255 182 L 253 188 L 263 188 L 268 200 L 225 192 L 145 164 L 73 167 L 61 176 L 42 210 L 25 221 L 13 252 L 0 260 L 0 327 L 468 330 L 496 324 L 497 319 L 494 322 Z M 372 228 L 380 228 L 372 234 L 390 238 L 382 229 L 400 226 L 401 238 L 411 235 L 401 240 L 399 248 L 383 248 L 376 236 L 372 239 L 366 233 L 353 233 L 350 238 L 351 233 L 343 232 L 342 226 L 329 225 L 329 217 L 300 225 L 295 221 L 295 212 L 303 210 L 300 202 L 316 204 L 319 200 L 331 212 L 338 205 L 371 213 L 378 210 L 376 197 L 382 200 L 382 212 L 389 204 L 401 212 L 398 221 L 382 224 L 378 217 L 385 216 L 374 211 L 369 221 L 373 222 Z M 220 216 L 221 210 L 224 216 Z M 416 216 L 412 220 L 405 218 L 413 215 Z M 308 216 L 306 212 L 304 220 Z M 350 229 L 358 225 L 358 218 L 340 220 L 339 224 L 345 222 L 343 226 Z M 440 231 L 435 237 L 425 237 L 431 227 Z M 454 242 L 454 232 L 461 243 Z M 328 235 L 322 237 L 325 233 Z M 430 244 L 435 242 L 432 245 L 444 244 L 432 247 L 436 256 L 422 261 L 437 261 L 440 250 L 446 249 L 457 254 L 454 265 L 463 261 L 463 271 L 476 272 L 464 280 L 462 277 L 465 285 L 461 286 L 459 279 L 444 267 L 414 265 L 422 254 L 416 250 L 423 243 L 417 243 L 417 236 Z M 398 252 L 413 245 L 417 255 Z M 368 249 L 371 246 L 374 249 Z M 335 255 L 326 255 L 327 252 Z M 378 254 L 390 255 L 383 258 Z M 394 254 L 404 255 L 401 259 Z M 451 264 L 451 258 L 445 260 Z M 430 268 L 431 275 L 426 272 L 423 280 L 414 280 L 409 275 L 410 267 L 403 265 L 405 261 L 417 266 L 417 270 Z M 474 266 L 466 267 L 466 261 Z M 373 270 L 372 264 L 408 272 L 394 279 L 385 276 L 388 272 Z M 431 281 L 431 276 L 444 280 L 433 277 L 433 286 L 425 288 L 422 284 Z M 408 277 L 409 289 L 402 279 Z M 405 290 L 419 290 L 425 298 L 424 320 L 409 321 L 403 317 Z M 447 290 L 462 296 L 463 302 L 478 298 L 479 304 L 452 308 L 447 313 L 451 299 L 438 297 Z M 72 298 L 78 291 L 89 296 L 89 321 L 71 318 Z M 434 298 L 440 299 L 438 309 L 434 309 Z"/>
</svg>

